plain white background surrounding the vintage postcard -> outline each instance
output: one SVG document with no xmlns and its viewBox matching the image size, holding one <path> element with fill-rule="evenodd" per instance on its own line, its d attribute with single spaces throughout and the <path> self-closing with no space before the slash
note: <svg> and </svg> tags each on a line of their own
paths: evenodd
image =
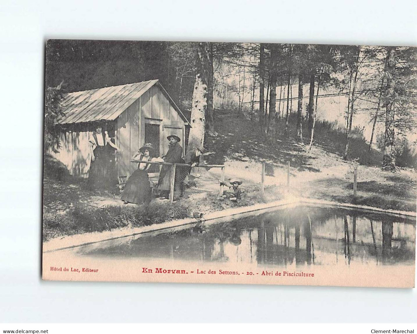
<svg viewBox="0 0 417 334">
<path fill-rule="evenodd" d="M 415 289 L 40 279 L 47 38 L 417 46 L 416 4 L 3 0 L 0 322 L 417 322 Z"/>
</svg>

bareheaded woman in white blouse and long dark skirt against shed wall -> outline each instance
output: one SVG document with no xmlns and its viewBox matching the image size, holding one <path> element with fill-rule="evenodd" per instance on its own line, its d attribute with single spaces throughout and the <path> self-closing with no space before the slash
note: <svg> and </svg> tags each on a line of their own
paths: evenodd
<svg viewBox="0 0 417 334">
<path fill-rule="evenodd" d="M 119 148 L 113 144 L 107 131 L 103 133 L 103 126 L 97 124 L 93 132 L 93 139 L 90 140 L 92 147 L 90 173 L 88 174 L 88 185 L 90 188 L 108 187 L 111 181 L 110 171 L 110 152 L 108 146 L 116 150 Z"/>
</svg>

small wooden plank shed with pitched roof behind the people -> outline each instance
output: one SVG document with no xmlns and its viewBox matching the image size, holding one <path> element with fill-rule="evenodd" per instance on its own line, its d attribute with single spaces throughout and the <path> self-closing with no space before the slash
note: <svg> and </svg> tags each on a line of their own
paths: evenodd
<svg viewBox="0 0 417 334">
<path fill-rule="evenodd" d="M 104 129 L 120 148 L 113 154 L 115 171 L 119 176 L 130 176 L 137 168 L 132 155 L 144 143 L 152 143 L 159 155 L 168 151 L 168 135 L 181 138 L 185 149 L 186 117 L 158 80 L 104 87 L 64 96 L 63 117 L 58 120 L 62 129 L 58 153 L 50 152 L 63 162 L 70 174 L 88 177 L 95 122 Z M 184 153 L 184 152 L 183 152 Z M 151 176 L 157 176 L 158 166 L 152 166 Z"/>
</svg>

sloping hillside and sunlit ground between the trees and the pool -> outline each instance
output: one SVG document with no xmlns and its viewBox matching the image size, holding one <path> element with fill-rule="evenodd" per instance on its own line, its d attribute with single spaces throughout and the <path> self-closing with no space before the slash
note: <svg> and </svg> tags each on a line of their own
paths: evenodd
<svg viewBox="0 0 417 334">
<path fill-rule="evenodd" d="M 217 110 L 216 137 L 206 137 L 209 164 L 224 164 L 226 178 L 239 177 L 246 184 L 260 184 L 261 165 L 265 163 L 266 198 L 289 195 L 349 202 L 416 211 L 416 172 L 399 168 L 384 172 L 379 168 L 381 152 L 368 151 L 367 143 L 354 138 L 348 160 L 342 159 L 343 129 L 337 131 L 319 124 L 314 146 L 294 140 L 294 123 L 285 135 L 285 125 L 279 123 L 279 140 L 273 147 L 263 140 L 259 123 L 248 117 L 236 117 L 233 112 Z M 305 131 L 306 132 L 306 131 Z M 307 140 L 306 140 L 307 141 Z M 290 187 L 287 183 L 287 162 L 290 163 Z M 357 196 L 353 196 L 353 173 L 357 167 Z M 242 185 L 245 187 L 245 182 Z"/>
</svg>

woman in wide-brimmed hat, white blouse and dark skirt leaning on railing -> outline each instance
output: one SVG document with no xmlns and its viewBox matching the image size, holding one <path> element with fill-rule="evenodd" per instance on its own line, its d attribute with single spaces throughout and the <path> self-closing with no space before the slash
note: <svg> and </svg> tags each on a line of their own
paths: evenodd
<svg viewBox="0 0 417 334">
<path fill-rule="evenodd" d="M 155 148 L 152 144 L 143 145 L 136 152 L 131 160 L 137 161 L 158 161 L 152 156 Z M 151 164 L 138 163 L 138 169 L 129 177 L 122 194 L 122 201 L 127 203 L 142 204 L 151 201 L 151 184 L 148 179 L 148 169 Z"/>
</svg>

